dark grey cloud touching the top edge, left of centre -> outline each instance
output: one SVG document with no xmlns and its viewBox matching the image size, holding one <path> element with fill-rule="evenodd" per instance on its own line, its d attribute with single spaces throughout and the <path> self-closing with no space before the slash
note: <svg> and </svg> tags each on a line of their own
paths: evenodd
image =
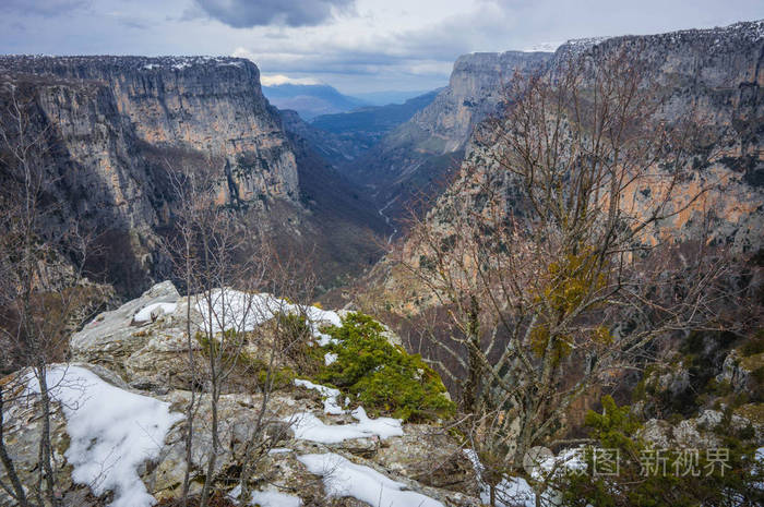
<svg viewBox="0 0 764 507">
<path fill-rule="evenodd" d="M 287 25 L 314 26 L 347 11 L 355 0 L 195 0 L 211 17 L 234 28 Z"/>
</svg>

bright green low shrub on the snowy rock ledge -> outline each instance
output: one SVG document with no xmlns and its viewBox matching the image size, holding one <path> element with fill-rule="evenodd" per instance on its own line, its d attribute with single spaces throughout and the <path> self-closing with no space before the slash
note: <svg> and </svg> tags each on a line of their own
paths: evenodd
<svg viewBox="0 0 764 507">
<path fill-rule="evenodd" d="M 371 415 L 425 421 L 454 413 L 440 376 L 418 354 L 391 345 L 372 317 L 351 313 L 341 327 L 324 331 L 338 340 L 323 348 L 337 360 L 323 366 L 315 379 L 353 395 Z"/>
</svg>

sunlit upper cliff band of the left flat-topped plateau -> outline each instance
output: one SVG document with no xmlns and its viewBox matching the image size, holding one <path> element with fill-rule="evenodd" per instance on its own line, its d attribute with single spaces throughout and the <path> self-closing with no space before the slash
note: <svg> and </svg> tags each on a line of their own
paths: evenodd
<svg viewBox="0 0 764 507">
<path fill-rule="evenodd" d="M 141 140 L 225 160 L 225 198 L 296 198 L 295 156 L 277 111 L 244 59 L 205 57 L 0 57 L 0 69 L 103 84 Z M 56 104 L 46 113 L 57 114 Z M 244 164 L 240 164 L 244 160 Z M 244 166 L 246 170 L 235 170 Z"/>
</svg>

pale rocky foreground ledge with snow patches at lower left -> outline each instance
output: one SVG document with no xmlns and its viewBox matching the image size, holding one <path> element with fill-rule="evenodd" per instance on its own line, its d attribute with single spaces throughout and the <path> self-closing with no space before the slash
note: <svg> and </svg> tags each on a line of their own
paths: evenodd
<svg viewBox="0 0 764 507">
<path fill-rule="evenodd" d="M 48 381 L 57 386 L 59 401 L 52 442 L 65 505 L 152 505 L 180 493 L 186 470 L 183 411 L 191 396 L 186 303 L 170 282 L 156 285 L 98 315 L 72 337 L 72 362 L 51 367 Z M 314 329 L 338 324 L 345 314 L 311 310 Z M 192 319 L 202 318 L 192 306 Z M 254 314 L 251 319 L 251 325 L 264 321 Z M 220 476 L 240 467 L 259 417 L 262 395 L 242 387 L 244 381 L 231 378 L 220 397 Z M 24 482 L 37 467 L 41 419 L 36 384 L 23 372 L 3 382 L 16 383 L 19 397 L 7 410 L 4 430 Z M 396 506 L 480 504 L 468 457 L 440 424 L 369 418 L 362 408 L 345 408 L 348 400 L 336 395 L 336 389 L 299 379 L 271 394 L 266 418 L 273 432 L 288 430 L 258 464 L 251 486 L 259 505 L 326 505 L 329 497 L 337 498 L 332 505 L 375 505 L 380 495 L 385 505 Z M 208 395 L 202 399 L 192 492 L 201 488 L 212 447 Z M 239 491 L 235 481 L 222 486 L 232 497 Z M 0 505 L 12 505 L 2 492 Z"/>
</svg>

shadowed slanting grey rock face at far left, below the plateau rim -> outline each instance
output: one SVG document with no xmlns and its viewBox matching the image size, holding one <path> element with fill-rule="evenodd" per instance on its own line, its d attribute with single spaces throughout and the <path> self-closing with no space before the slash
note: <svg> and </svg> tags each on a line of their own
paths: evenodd
<svg viewBox="0 0 764 507">
<path fill-rule="evenodd" d="M 155 224 L 157 210 L 147 198 L 154 179 L 146 178 L 140 140 L 111 92 L 92 82 L 25 84 L 36 98 L 38 128 L 53 132 L 47 141 L 56 149 L 55 165 L 63 169 L 56 190 L 70 217 L 93 226 Z M 56 178 L 52 168 L 48 172 Z"/>
</svg>

